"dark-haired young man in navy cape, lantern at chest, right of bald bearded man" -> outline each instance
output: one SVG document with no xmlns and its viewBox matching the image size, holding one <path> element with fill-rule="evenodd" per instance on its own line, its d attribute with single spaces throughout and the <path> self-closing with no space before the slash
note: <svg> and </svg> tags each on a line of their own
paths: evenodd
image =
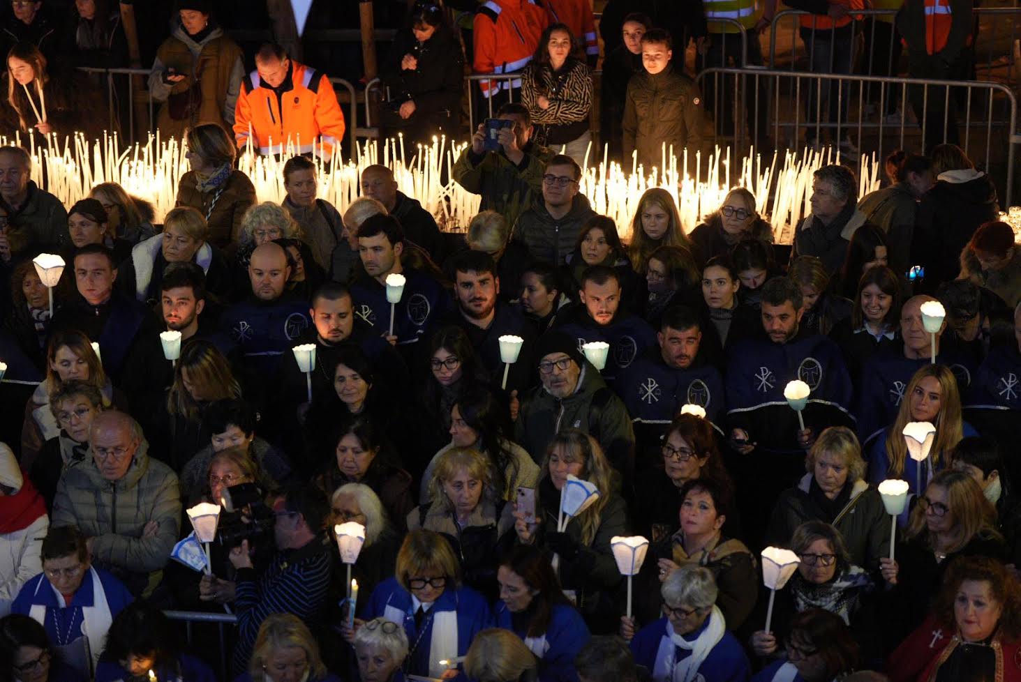
<svg viewBox="0 0 1021 682">
<path fill-rule="evenodd" d="M 392 215 L 372 215 L 358 226 L 358 256 L 366 274 L 351 285 L 354 313 L 380 336 L 398 346 L 417 343 L 435 320 L 449 309 L 449 299 L 436 280 L 401 263 L 404 231 Z M 400 302 L 386 298 L 389 275 L 405 278 Z M 393 309 L 393 336 L 389 336 Z"/>
</svg>

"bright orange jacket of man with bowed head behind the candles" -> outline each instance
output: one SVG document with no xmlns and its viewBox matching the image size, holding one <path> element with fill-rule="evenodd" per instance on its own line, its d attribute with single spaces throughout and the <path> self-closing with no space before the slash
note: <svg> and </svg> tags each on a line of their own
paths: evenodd
<svg viewBox="0 0 1021 682">
<path fill-rule="evenodd" d="M 344 139 L 344 112 L 329 77 L 294 60 L 279 88 L 262 83 L 257 70 L 246 76 L 234 112 L 238 149 L 248 144 L 249 134 L 260 154 L 271 153 L 271 144 L 293 143 L 299 154 L 322 149 L 332 156 Z"/>
</svg>

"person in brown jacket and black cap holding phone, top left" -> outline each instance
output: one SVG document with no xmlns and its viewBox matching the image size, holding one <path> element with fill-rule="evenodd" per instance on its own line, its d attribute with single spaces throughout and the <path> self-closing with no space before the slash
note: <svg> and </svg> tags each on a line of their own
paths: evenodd
<svg viewBox="0 0 1021 682">
<path fill-rule="evenodd" d="M 163 138 L 182 138 L 198 124 L 234 125 L 245 76 L 241 48 L 210 17 L 209 0 L 180 0 L 180 22 L 156 51 L 149 93 L 159 109 Z M 201 71 L 196 71 L 202 64 Z"/>
</svg>

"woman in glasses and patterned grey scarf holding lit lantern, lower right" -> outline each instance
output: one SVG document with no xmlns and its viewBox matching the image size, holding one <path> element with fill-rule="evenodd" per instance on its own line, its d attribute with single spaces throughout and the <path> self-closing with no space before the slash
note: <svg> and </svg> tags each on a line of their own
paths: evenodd
<svg viewBox="0 0 1021 682">
<path fill-rule="evenodd" d="M 777 633 L 787 632 L 796 614 L 813 607 L 832 612 L 852 629 L 869 633 L 868 626 L 874 622 L 871 612 L 862 607 L 863 597 L 875 584 L 862 568 L 850 563 L 840 533 L 829 524 L 810 521 L 798 526 L 786 544 L 800 563 L 784 589 L 776 593 L 771 631 L 752 633 L 751 649 L 761 656 L 783 653 Z M 760 596 L 750 623 L 765 623 L 768 600 L 768 595 Z"/>
</svg>

